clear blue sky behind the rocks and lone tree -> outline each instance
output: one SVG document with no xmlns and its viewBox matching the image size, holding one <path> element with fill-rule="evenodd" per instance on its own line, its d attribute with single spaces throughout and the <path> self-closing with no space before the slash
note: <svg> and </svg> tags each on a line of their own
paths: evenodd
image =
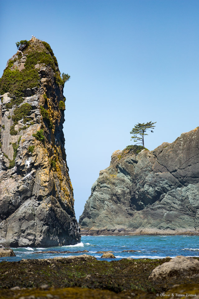
<svg viewBox="0 0 199 299">
<path fill-rule="evenodd" d="M 198 0 L 0 1 L 0 75 L 16 41 L 48 42 L 66 83 L 64 135 L 79 219 L 138 122 L 153 150 L 199 125 Z"/>
</svg>

